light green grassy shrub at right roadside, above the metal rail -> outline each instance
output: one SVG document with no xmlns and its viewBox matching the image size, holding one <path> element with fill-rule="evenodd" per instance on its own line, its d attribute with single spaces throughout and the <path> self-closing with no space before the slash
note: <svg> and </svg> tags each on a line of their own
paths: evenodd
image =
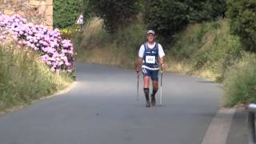
<svg viewBox="0 0 256 144">
<path fill-rule="evenodd" d="M 246 55 L 236 66 L 231 67 L 224 82 L 226 104 L 256 102 L 256 58 Z"/>
</svg>

